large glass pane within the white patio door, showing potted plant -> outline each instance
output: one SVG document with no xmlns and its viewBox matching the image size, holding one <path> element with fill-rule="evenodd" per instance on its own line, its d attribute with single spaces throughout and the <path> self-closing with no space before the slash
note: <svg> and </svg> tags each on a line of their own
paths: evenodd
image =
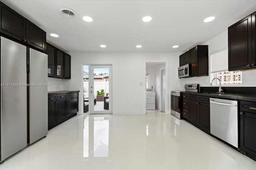
<svg viewBox="0 0 256 170">
<path fill-rule="evenodd" d="M 109 68 L 94 68 L 94 111 L 109 109 Z"/>
</svg>

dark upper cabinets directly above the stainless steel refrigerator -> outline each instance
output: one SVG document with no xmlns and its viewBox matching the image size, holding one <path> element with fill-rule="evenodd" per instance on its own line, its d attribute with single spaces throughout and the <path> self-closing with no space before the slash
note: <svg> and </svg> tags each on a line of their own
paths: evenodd
<svg viewBox="0 0 256 170">
<path fill-rule="evenodd" d="M 46 32 L 0 2 L 0 33 L 28 47 L 46 51 Z"/>
</svg>

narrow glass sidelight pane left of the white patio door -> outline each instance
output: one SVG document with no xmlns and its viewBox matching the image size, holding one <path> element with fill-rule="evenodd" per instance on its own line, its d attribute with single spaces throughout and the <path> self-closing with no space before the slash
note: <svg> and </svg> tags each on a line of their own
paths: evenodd
<svg viewBox="0 0 256 170">
<path fill-rule="evenodd" d="M 84 113 L 89 111 L 89 66 L 83 65 L 83 95 L 84 95 Z"/>
</svg>

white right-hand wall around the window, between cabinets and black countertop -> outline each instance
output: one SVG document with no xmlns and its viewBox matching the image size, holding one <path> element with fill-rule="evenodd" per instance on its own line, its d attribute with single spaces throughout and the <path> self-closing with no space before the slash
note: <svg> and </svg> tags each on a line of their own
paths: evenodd
<svg viewBox="0 0 256 170">
<path fill-rule="evenodd" d="M 210 39 L 209 41 L 203 43 L 202 45 L 208 45 L 209 52 L 209 67 L 210 67 L 210 55 L 228 49 L 228 31 L 217 35 L 216 37 Z M 220 61 L 221 62 L 221 61 Z M 242 85 L 232 85 L 232 86 L 255 86 L 256 79 L 255 75 L 256 70 L 243 71 L 242 72 Z M 210 68 L 209 68 L 210 75 Z M 213 78 L 213 77 L 212 77 Z M 202 77 L 192 77 L 192 78 L 182 78 L 180 79 L 180 83 L 184 87 L 185 84 L 195 83 L 200 84 L 200 86 L 210 86 L 210 76 L 202 76 Z M 217 85 L 218 86 L 218 85 Z M 222 85 L 225 86 L 225 85 Z M 229 86 L 230 85 L 226 85 Z"/>
</svg>

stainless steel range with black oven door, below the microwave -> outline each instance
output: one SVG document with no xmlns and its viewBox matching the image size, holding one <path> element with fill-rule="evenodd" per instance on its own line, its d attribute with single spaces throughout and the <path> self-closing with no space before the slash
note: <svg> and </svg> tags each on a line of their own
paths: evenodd
<svg viewBox="0 0 256 170">
<path fill-rule="evenodd" d="M 186 92 L 199 92 L 199 84 L 185 84 Z M 171 91 L 171 114 L 182 119 L 180 91 Z"/>
</svg>

